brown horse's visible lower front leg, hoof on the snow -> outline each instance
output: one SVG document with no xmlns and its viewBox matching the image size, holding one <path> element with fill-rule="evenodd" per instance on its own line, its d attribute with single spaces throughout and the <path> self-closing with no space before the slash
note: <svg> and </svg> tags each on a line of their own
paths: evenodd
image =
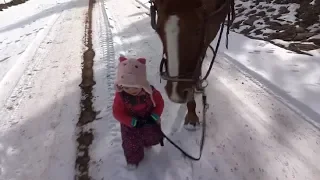
<svg viewBox="0 0 320 180">
<path fill-rule="evenodd" d="M 196 101 L 194 98 L 187 102 L 187 108 L 188 112 L 184 121 L 185 128 L 188 130 L 196 130 L 200 122 L 196 113 Z"/>
</svg>

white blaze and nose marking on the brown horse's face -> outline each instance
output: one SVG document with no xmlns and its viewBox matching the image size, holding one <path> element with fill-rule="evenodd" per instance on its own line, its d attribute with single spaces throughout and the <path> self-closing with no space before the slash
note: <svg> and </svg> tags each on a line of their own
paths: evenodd
<svg viewBox="0 0 320 180">
<path fill-rule="evenodd" d="M 169 16 L 165 24 L 169 76 L 179 75 L 179 31 L 179 17 L 176 15 Z M 169 95 L 173 102 L 181 101 L 181 97 L 177 92 L 177 85 L 177 82 L 172 83 L 172 90 Z"/>
</svg>

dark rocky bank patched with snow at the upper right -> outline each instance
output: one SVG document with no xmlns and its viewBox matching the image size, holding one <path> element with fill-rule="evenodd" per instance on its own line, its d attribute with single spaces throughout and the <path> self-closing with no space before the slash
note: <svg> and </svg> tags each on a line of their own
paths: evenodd
<svg viewBox="0 0 320 180">
<path fill-rule="evenodd" d="M 320 49 L 320 0 L 236 0 L 233 30 L 303 53 Z M 282 40 L 279 41 L 278 39 Z"/>
</svg>

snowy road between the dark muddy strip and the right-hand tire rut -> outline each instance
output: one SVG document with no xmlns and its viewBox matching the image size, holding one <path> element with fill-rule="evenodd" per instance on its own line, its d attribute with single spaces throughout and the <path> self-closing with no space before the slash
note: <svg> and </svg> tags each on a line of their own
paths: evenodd
<svg viewBox="0 0 320 180">
<path fill-rule="evenodd" d="M 166 143 L 164 147 L 151 150 L 137 171 L 128 172 L 124 168 L 119 124 L 113 119 L 110 108 L 111 79 L 117 64 L 114 59 L 119 53 L 146 57 L 149 79 L 164 94 L 164 84 L 159 83 L 158 76 L 162 46 L 150 27 L 146 10 L 134 0 L 105 1 L 104 7 L 107 16 L 99 10 L 94 18 L 98 25 L 95 32 L 100 37 L 96 36 L 95 41 L 95 92 L 99 97 L 95 100 L 95 107 L 100 114 L 99 121 L 92 124 L 95 139 L 91 147 L 91 175 L 94 179 L 320 178 L 318 124 L 292 111 L 288 104 L 272 94 L 272 89 L 245 73 L 223 53 L 209 78 L 210 109 L 202 159 L 199 162 L 185 159 Z M 114 48 L 110 46 L 112 40 Z M 186 107 L 169 102 L 166 96 L 164 98 L 164 131 L 196 156 L 200 131 L 186 131 L 182 127 Z M 201 104 L 200 99 L 198 102 Z M 200 110 L 201 106 L 197 108 Z"/>
</svg>

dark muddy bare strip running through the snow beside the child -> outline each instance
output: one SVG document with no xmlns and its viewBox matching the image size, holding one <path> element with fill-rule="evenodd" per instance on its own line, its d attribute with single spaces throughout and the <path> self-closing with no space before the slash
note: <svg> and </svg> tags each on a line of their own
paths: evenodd
<svg viewBox="0 0 320 180">
<path fill-rule="evenodd" d="M 76 180 L 89 180 L 89 147 L 93 141 L 93 133 L 91 129 L 85 126 L 96 119 L 96 111 L 92 106 L 93 93 L 92 89 L 95 85 L 93 78 L 93 59 L 95 51 L 92 44 L 92 11 L 95 0 L 89 0 L 88 13 L 86 16 L 84 45 L 87 50 L 83 53 L 83 68 L 82 68 L 82 82 L 80 84 L 82 99 L 81 99 L 81 114 L 77 123 L 78 138 L 77 138 L 77 154 L 76 154 Z"/>
</svg>

